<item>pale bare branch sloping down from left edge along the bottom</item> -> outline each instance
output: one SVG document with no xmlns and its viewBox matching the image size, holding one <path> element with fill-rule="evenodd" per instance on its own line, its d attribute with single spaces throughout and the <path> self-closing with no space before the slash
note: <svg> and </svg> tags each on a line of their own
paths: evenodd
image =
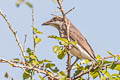
<svg viewBox="0 0 120 80">
<path fill-rule="evenodd" d="M 26 66 L 23 62 L 14 62 L 14 61 L 9 61 L 6 59 L 0 59 L 0 63 L 8 63 L 10 65 L 12 65 L 12 67 L 17 67 L 17 68 L 21 68 L 21 69 L 29 69 L 29 70 L 35 70 L 38 73 L 42 73 L 45 74 L 47 76 L 50 76 L 51 78 L 55 79 L 55 80 L 59 80 L 58 77 L 54 76 L 53 74 L 49 74 L 48 72 L 44 71 L 44 70 L 40 70 L 40 68 L 37 67 L 30 67 L 30 66 Z"/>
</svg>

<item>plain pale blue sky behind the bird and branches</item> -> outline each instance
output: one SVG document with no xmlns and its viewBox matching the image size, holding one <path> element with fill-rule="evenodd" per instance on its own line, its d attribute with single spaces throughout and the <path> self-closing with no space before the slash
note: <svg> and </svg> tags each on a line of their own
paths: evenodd
<svg viewBox="0 0 120 80">
<path fill-rule="evenodd" d="M 18 8 L 17 0 L 0 0 L 0 10 L 2 10 L 23 45 L 24 35 L 27 34 L 26 48 L 32 48 L 32 28 L 31 9 L 25 4 Z M 30 0 L 34 6 L 35 27 L 43 32 L 39 37 L 42 42 L 37 45 L 39 59 L 49 59 L 57 64 L 61 69 L 65 69 L 64 60 L 58 60 L 53 53 L 52 47 L 58 44 L 57 40 L 49 39 L 49 35 L 58 35 L 57 30 L 52 27 L 44 27 L 41 24 L 49 20 L 50 15 L 57 9 L 57 4 L 52 0 Z M 64 0 L 64 9 L 67 11 L 73 7 L 67 17 L 83 33 L 95 51 L 95 55 L 108 56 L 107 50 L 113 54 L 120 53 L 120 0 Z M 20 57 L 20 49 L 15 41 L 8 25 L 0 16 L 0 58 L 13 59 Z M 0 80 L 6 80 L 4 73 L 8 72 L 15 80 L 22 80 L 22 70 L 11 68 L 8 64 L 0 64 Z"/>
</svg>

